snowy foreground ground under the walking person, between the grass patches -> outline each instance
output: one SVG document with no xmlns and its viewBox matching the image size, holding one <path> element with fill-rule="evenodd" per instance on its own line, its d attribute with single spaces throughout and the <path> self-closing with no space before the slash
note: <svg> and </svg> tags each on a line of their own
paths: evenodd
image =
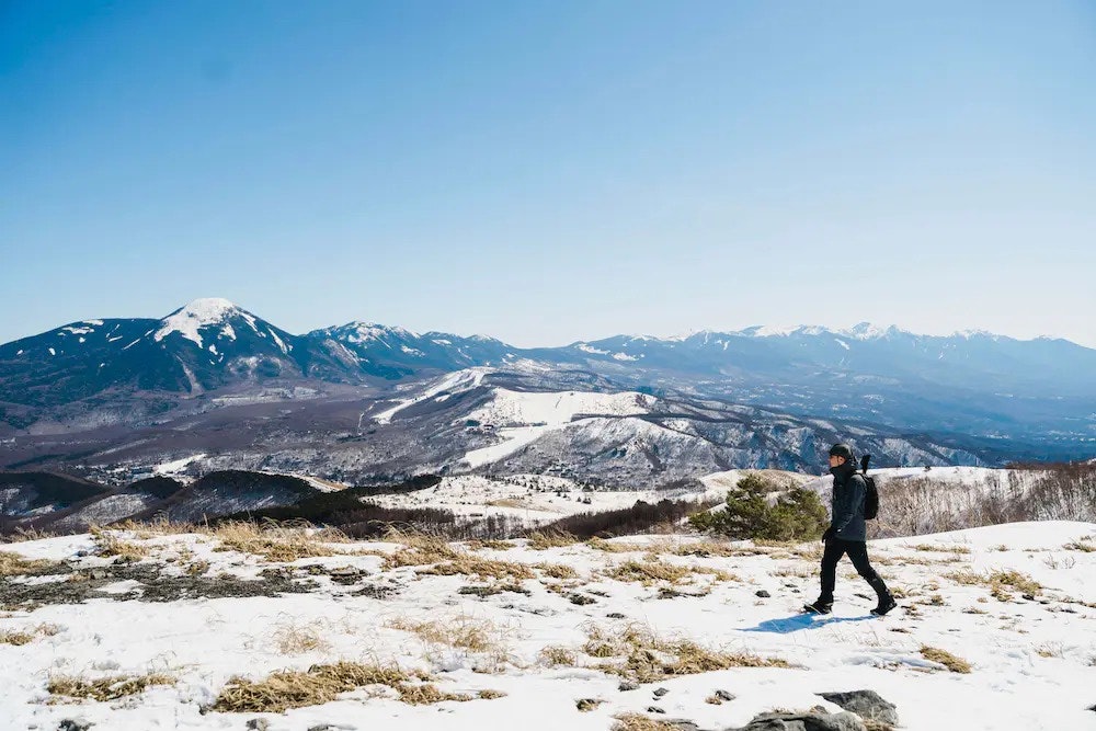
<svg viewBox="0 0 1096 731">
<path fill-rule="evenodd" d="M 901 608 L 882 619 L 867 613 L 870 592 L 848 575 L 847 562 L 838 572 L 835 613 L 798 613 L 817 592 L 818 545 L 722 544 L 722 551 L 708 546 L 700 556 L 686 555 L 697 539 L 685 536 L 610 541 L 626 552 L 586 544 L 540 550 L 525 541 L 488 549 L 457 546 L 469 557 L 524 564 L 535 576 L 499 582 L 517 585 L 476 596 L 459 590 L 492 581 L 427 573 L 430 566 L 414 561 L 386 568 L 384 557 L 401 549 L 395 544 L 332 544 L 334 556 L 279 564 L 294 572 L 294 582 L 315 582 L 305 593 L 156 603 L 140 601 L 151 585 L 121 579 L 124 572 L 159 570 L 164 581 L 193 573 L 230 582 L 253 579 L 270 562 L 218 551 L 217 539 L 208 536 L 121 537 L 148 547 L 149 556 L 110 566 L 110 559 L 94 555 L 96 544 L 88 535 L 2 547 L 26 558 L 70 561 L 82 575 L 94 576 L 101 568 L 119 579 L 109 579 L 93 593 L 102 598 L 83 604 L 46 602 L 0 614 L 0 637 L 19 631 L 33 637 L 25 644 L 0 642 L 0 729 L 53 730 L 61 719 L 73 719 L 95 723 L 95 731 L 242 730 L 261 717 L 271 731 L 515 724 L 604 731 L 614 716 L 626 712 L 723 729 L 774 708 L 821 705 L 836 711 L 815 694 L 861 688 L 895 704 L 903 729 L 1096 729 L 1096 713 L 1086 710 L 1096 704 L 1096 552 L 1085 550 L 1096 547 L 1096 524 L 1012 524 L 874 541 L 878 568 L 903 596 Z M 648 568 L 726 573 L 693 572 L 677 583 L 646 585 L 609 575 L 628 568 L 629 560 Z M 566 578 L 561 567 L 575 576 Z M 993 571 L 1019 572 L 1041 587 L 1023 598 L 1020 590 L 1007 585 L 993 596 L 989 586 L 970 583 Z M 5 576 L 0 590 L 10 594 L 16 584 L 57 580 L 72 585 L 64 574 Z M 520 592 L 509 591 L 515 589 Z M 478 628 L 488 642 L 478 651 L 461 649 L 444 639 L 423 639 L 409 623 L 433 623 L 439 630 Z M 595 629 L 612 637 L 626 627 L 777 658 L 792 667 L 731 667 L 621 690 L 620 677 L 594 667 L 617 661 L 591 656 L 583 646 Z M 570 650 L 568 662 L 545 660 L 541 651 L 552 647 Z M 969 661 L 970 673 L 927 660 L 924 647 Z M 203 713 L 233 676 L 262 679 L 276 670 L 305 671 L 340 660 L 427 671 L 445 692 L 506 695 L 411 706 L 370 686 L 284 713 Z M 165 673 L 174 685 L 113 701 L 56 703 L 46 690 L 59 675 L 95 679 L 149 672 Z M 657 688 L 666 693 L 657 697 Z M 706 703 L 717 690 L 734 698 Z M 580 712 L 575 704 L 583 698 L 603 703 Z"/>
</svg>

